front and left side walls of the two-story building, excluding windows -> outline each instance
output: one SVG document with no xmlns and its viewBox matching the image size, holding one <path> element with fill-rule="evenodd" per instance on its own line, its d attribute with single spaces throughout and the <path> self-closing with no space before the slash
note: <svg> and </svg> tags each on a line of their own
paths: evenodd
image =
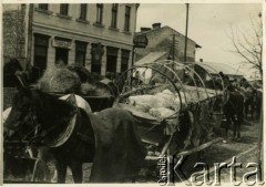
<svg viewBox="0 0 266 187">
<path fill-rule="evenodd" d="M 3 55 L 4 59 L 18 58 L 25 66 L 27 55 L 29 63 L 34 65 L 35 35 L 48 37 L 47 67 L 55 62 L 55 38 L 64 38 L 71 41 L 69 46 L 69 62 L 75 63 L 75 42 L 86 43 L 85 67 L 91 70 L 92 44 L 103 45 L 101 74 L 106 73 L 106 49 L 109 46 L 117 49 L 115 71 L 121 71 L 122 51 L 129 52 L 129 67 L 132 64 L 133 35 L 136 24 L 136 12 L 139 4 L 119 3 L 116 29 L 111 28 L 112 3 L 103 4 L 102 24 L 95 24 L 96 4 L 88 3 L 86 20 L 81 21 L 79 3 L 69 4 L 68 17 L 59 14 L 60 4 L 49 4 L 48 10 L 41 10 L 39 4 L 4 4 L 3 8 Z M 131 7 L 130 30 L 124 31 L 125 6 Z M 32 7 L 32 9 L 31 9 Z M 32 10 L 32 24 L 29 21 L 30 10 Z M 30 27 L 29 27 L 30 25 Z M 32 27 L 31 27 L 32 25 Z M 31 30 L 29 30 L 31 28 Z M 28 50 L 28 51 L 27 51 Z"/>
</svg>

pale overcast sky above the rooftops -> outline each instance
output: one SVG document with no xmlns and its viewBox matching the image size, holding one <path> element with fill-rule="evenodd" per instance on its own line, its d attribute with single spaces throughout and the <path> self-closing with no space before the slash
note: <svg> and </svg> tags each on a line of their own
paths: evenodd
<svg viewBox="0 0 266 187">
<path fill-rule="evenodd" d="M 231 25 L 248 32 L 250 17 L 262 12 L 260 3 L 190 3 L 187 37 L 202 46 L 196 61 L 226 63 L 242 69 L 243 59 L 233 50 Z M 186 6 L 184 3 L 141 3 L 136 31 L 161 22 L 185 35 Z M 244 71 L 244 70 L 242 70 Z"/>
</svg>

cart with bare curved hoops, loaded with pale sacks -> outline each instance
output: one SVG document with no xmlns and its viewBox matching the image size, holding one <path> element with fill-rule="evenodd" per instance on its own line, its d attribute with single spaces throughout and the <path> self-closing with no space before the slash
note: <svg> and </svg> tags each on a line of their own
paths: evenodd
<svg viewBox="0 0 266 187">
<path fill-rule="evenodd" d="M 149 165 L 156 167 L 162 157 L 190 155 L 222 141 L 214 128 L 222 121 L 223 80 L 214 80 L 201 64 L 197 64 L 200 72 L 194 65 L 167 60 L 135 65 L 123 72 L 125 85 L 114 106 L 133 114 L 147 148 Z M 217 80 L 221 90 L 215 85 Z M 165 90 L 174 101 L 172 106 L 165 105 L 165 111 L 172 110 L 168 116 L 153 115 L 154 108 L 146 106 L 145 101 L 132 102 L 137 97 L 154 97 Z"/>
</svg>

